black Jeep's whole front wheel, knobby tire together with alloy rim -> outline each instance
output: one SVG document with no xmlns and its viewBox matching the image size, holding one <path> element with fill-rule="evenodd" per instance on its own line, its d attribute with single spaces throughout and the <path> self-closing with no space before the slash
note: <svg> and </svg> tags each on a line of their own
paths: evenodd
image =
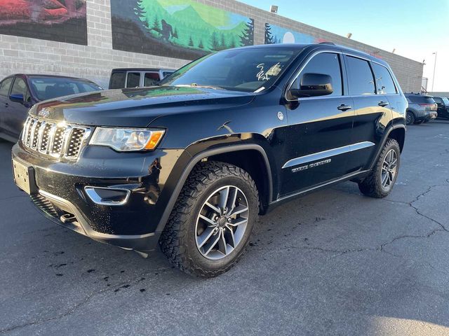
<svg viewBox="0 0 449 336">
<path fill-rule="evenodd" d="M 220 207 L 223 200 L 227 200 L 225 206 Z M 247 211 L 234 215 L 245 207 Z M 247 172 L 224 162 L 201 163 L 185 182 L 159 245 L 183 272 L 203 278 L 217 276 L 233 267 L 245 252 L 258 212 L 257 187 Z M 231 234 L 230 230 L 235 231 Z"/>
</svg>

